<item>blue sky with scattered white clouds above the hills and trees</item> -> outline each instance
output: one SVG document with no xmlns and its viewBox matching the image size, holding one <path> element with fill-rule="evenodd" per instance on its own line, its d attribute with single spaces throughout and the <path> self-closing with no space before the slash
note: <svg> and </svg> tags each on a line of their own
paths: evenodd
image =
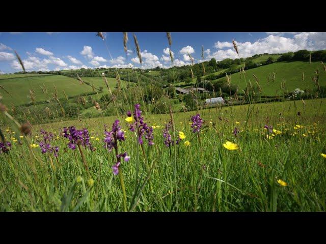
<svg viewBox="0 0 326 244">
<path fill-rule="evenodd" d="M 139 62 L 132 33 L 128 33 L 127 53 L 123 33 L 103 33 L 104 40 L 90 32 L 12 32 L 0 33 L 0 74 L 22 71 L 14 50 L 20 55 L 26 71 L 50 71 L 80 68 L 170 68 L 169 42 L 166 33 L 139 32 L 142 54 Z M 249 57 L 260 53 L 284 53 L 301 49 L 326 49 L 322 32 L 172 32 L 171 51 L 175 66 L 215 58 Z M 235 40 L 239 56 L 233 49 Z"/>
</svg>

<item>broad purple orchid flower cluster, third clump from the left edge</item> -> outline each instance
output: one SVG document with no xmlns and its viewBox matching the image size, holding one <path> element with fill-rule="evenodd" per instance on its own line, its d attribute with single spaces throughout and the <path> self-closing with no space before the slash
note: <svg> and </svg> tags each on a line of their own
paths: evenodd
<svg viewBox="0 0 326 244">
<path fill-rule="evenodd" d="M 68 147 L 70 149 L 76 149 L 77 141 L 80 140 L 84 147 L 88 147 L 92 151 L 95 150 L 90 142 L 90 134 L 86 128 L 83 130 L 77 130 L 74 126 L 70 126 L 68 128 L 64 127 L 63 136 L 69 139 Z"/>
</svg>

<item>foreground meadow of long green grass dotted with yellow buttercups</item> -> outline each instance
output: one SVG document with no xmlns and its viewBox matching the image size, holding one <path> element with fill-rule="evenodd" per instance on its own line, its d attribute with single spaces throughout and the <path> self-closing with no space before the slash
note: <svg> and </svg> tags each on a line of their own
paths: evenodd
<svg viewBox="0 0 326 244">
<path fill-rule="evenodd" d="M 326 159 L 320 155 L 326 154 L 325 103 L 317 99 L 200 110 L 205 121 L 196 133 L 190 125 L 196 111 L 174 113 L 176 137 L 182 131 L 185 138 L 169 147 L 162 136 L 169 114 L 143 113 L 155 128 L 152 146 L 145 137 L 139 144 L 124 114 L 35 126 L 21 145 L 12 139 L 15 127 L 8 120 L 5 136 L 12 148 L 0 154 L 6 162 L 0 172 L 0 210 L 325 211 Z M 110 152 L 103 147 L 104 124 L 110 131 L 115 119 L 126 131 L 125 140 Z M 276 130 L 269 132 L 264 125 Z M 67 126 L 88 128 L 96 149 L 81 146 L 82 156 L 78 148 L 68 148 L 68 139 L 60 135 Z M 42 141 L 40 129 L 54 133 L 50 145 L 59 146 L 58 158 L 29 147 Z M 226 141 L 238 148 L 227 149 Z M 124 152 L 130 160 L 122 160 L 114 175 L 115 155 Z"/>
</svg>

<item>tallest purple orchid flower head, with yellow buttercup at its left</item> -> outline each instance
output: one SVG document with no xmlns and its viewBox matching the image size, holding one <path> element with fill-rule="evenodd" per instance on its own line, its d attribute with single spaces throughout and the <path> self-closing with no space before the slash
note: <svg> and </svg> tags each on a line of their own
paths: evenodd
<svg viewBox="0 0 326 244">
<path fill-rule="evenodd" d="M 144 117 L 142 117 L 142 110 L 140 109 L 141 105 L 140 104 L 135 104 L 134 105 L 134 112 L 133 112 L 133 118 L 134 118 L 134 123 L 130 124 L 129 130 L 134 132 L 137 130 L 138 134 L 138 142 L 139 144 L 143 144 L 143 135 L 145 136 L 145 139 L 148 141 L 148 145 L 154 145 L 153 143 L 153 128 L 148 126 L 144 122 Z M 131 117 L 131 112 L 127 112 L 127 116 Z"/>
</svg>

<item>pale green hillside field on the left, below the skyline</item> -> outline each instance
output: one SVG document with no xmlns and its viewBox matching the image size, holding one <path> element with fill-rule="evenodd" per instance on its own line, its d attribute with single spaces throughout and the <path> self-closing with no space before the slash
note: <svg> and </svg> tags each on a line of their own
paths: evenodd
<svg viewBox="0 0 326 244">
<path fill-rule="evenodd" d="M 0 90 L 0 93 L 3 96 L 3 103 L 14 105 L 22 105 L 25 103 L 31 102 L 29 90 L 33 89 L 36 96 L 35 101 L 45 101 L 53 97 L 55 92 L 54 87 L 56 86 L 58 90 L 58 97 L 64 98 L 64 91 L 67 96 L 76 96 L 82 93 L 93 92 L 91 86 L 80 85 L 79 81 L 74 78 L 70 78 L 62 75 L 48 75 L 48 76 L 32 76 L 32 77 L 20 77 L 14 78 L 16 75 L 11 75 L 10 79 L 1 79 L 0 85 L 2 85 L 9 93 L 7 94 L 4 90 Z M 18 75 L 20 76 L 20 75 Z M 99 86 L 105 87 L 105 83 L 102 78 L 97 77 L 83 77 L 83 80 L 93 83 L 96 88 Z M 109 86 L 114 89 L 117 81 L 115 78 L 107 78 Z M 44 94 L 42 91 L 43 84 L 46 87 Z M 126 81 L 122 81 L 122 86 L 126 85 Z M 133 83 L 130 82 L 130 85 Z"/>
</svg>

